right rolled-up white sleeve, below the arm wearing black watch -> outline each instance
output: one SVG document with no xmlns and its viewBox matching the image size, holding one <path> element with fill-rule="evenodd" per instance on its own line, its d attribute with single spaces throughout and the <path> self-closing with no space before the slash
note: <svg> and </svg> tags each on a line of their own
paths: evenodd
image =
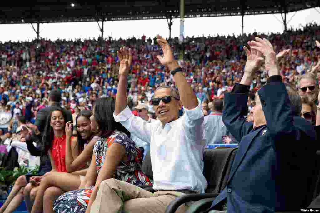
<svg viewBox="0 0 320 213">
<path fill-rule="evenodd" d="M 204 115 L 199 99 L 198 103 L 198 106 L 194 109 L 186 109 L 183 107 L 185 111 L 183 126 L 188 139 L 202 143 L 204 142 Z"/>
</svg>

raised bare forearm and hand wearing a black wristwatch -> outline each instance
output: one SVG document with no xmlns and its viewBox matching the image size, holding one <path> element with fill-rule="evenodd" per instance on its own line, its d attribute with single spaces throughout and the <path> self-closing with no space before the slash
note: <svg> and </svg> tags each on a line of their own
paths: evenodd
<svg viewBox="0 0 320 213">
<path fill-rule="evenodd" d="M 174 60 L 173 53 L 168 42 L 160 35 L 157 35 L 157 43 L 161 45 L 161 49 L 163 51 L 163 56 L 157 56 L 161 64 L 167 66 L 170 71 L 180 68 L 178 62 Z M 190 84 L 187 82 L 185 76 L 183 75 L 183 72 L 176 72 L 173 75 L 173 79 L 178 87 L 182 105 L 186 109 L 196 108 L 199 105 L 198 99 Z"/>
</svg>

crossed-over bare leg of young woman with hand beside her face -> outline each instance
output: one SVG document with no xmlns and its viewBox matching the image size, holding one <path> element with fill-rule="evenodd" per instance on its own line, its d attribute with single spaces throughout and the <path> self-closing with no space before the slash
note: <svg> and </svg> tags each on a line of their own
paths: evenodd
<svg viewBox="0 0 320 213">
<path fill-rule="evenodd" d="M 36 194 L 35 203 L 32 207 L 31 213 L 43 212 L 44 192 L 51 186 L 56 186 L 65 192 L 79 188 L 81 184 L 79 175 L 72 175 L 66 172 L 54 172 L 47 175 L 41 180 L 39 191 Z"/>
</svg>

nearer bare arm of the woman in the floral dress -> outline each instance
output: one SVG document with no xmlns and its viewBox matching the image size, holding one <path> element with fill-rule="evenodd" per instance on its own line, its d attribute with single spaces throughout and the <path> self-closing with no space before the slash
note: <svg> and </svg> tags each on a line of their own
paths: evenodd
<svg viewBox="0 0 320 213">
<path fill-rule="evenodd" d="M 118 167 L 119 163 L 124 158 L 124 156 L 125 156 L 125 148 L 123 145 L 114 143 L 108 148 L 106 159 L 99 172 L 96 184 L 94 185 L 94 189 L 91 193 L 91 197 L 88 203 L 88 208 L 86 210 L 86 213 L 90 213 L 91 205 L 97 197 L 100 183 L 106 179 L 110 179 L 114 177 L 116 168 Z"/>
</svg>

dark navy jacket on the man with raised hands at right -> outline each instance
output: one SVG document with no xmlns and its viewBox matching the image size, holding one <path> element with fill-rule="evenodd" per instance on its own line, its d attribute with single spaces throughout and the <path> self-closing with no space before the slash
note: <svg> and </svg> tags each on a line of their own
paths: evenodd
<svg viewBox="0 0 320 213">
<path fill-rule="evenodd" d="M 281 78 L 280 78 L 281 79 Z M 244 87 L 237 84 L 234 90 Z M 233 90 L 233 91 L 234 91 Z M 244 93 L 245 92 L 245 93 Z M 249 86 L 225 95 L 223 121 L 240 142 L 227 187 L 212 209 L 227 198 L 228 213 L 275 212 L 308 206 L 308 177 L 315 165 L 316 132 L 294 117 L 282 82 L 267 83 L 258 94 L 267 125 L 246 122 Z"/>
</svg>

